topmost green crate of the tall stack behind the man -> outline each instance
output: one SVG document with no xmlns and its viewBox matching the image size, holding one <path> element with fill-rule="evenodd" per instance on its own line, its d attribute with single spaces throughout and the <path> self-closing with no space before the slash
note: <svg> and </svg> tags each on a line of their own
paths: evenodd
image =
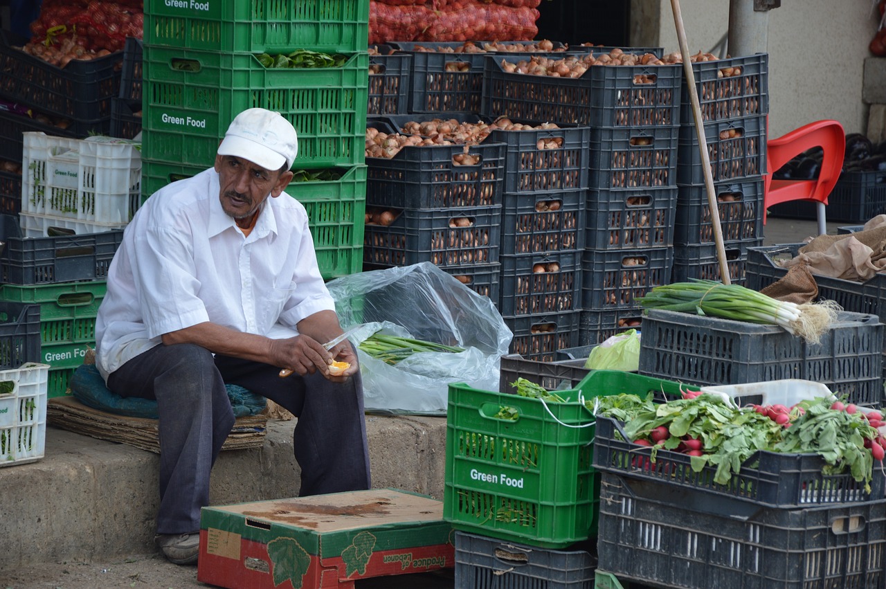
<svg viewBox="0 0 886 589">
<path fill-rule="evenodd" d="M 211 51 L 350 52 L 369 42 L 369 0 L 144 3 L 144 43 Z"/>
</svg>

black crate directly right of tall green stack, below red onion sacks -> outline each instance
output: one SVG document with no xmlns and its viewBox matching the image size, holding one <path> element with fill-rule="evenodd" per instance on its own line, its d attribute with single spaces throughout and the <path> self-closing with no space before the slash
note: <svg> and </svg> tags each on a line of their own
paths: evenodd
<svg viewBox="0 0 886 589">
<path fill-rule="evenodd" d="M 391 45 L 373 45 L 379 54 L 369 55 L 369 114 L 408 112 L 412 55 Z"/>
</svg>

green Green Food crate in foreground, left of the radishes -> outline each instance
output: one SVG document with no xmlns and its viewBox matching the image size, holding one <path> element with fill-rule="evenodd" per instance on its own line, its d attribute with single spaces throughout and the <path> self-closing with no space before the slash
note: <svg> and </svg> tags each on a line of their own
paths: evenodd
<svg viewBox="0 0 886 589">
<path fill-rule="evenodd" d="M 595 421 L 581 401 L 649 391 L 679 398 L 680 384 L 595 370 L 557 391 L 565 403 L 450 384 L 443 518 L 456 530 L 544 548 L 595 536 Z M 517 420 L 495 417 L 501 407 L 515 409 Z"/>
</svg>

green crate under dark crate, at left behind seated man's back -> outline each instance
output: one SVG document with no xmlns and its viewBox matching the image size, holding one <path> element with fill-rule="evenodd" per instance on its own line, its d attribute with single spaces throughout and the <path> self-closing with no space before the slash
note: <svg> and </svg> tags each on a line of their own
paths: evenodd
<svg viewBox="0 0 886 589">
<path fill-rule="evenodd" d="M 40 305 L 40 354 L 51 367 L 50 398 L 65 394 L 74 368 L 96 346 L 96 317 L 106 291 L 105 280 L 0 286 L 0 300 Z"/>
</svg>

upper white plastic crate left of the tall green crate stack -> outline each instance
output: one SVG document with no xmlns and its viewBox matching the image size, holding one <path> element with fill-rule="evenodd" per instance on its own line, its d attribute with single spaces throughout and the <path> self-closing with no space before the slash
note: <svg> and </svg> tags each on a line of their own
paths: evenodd
<svg viewBox="0 0 886 589">
<path fill-rule="evenodd" d="M 22 213 L 108 224 L 132 219 L 141 204 L 141 143 L 23 136 Z"/>
</svg>

